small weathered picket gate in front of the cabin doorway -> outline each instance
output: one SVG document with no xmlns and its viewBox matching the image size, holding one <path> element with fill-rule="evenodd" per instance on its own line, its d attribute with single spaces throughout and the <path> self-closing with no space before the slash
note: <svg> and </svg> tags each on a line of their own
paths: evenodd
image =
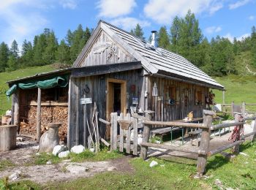
<svg viewBox="0 0 256 190">
<path fill-rule="evenodd" d="M 110 150 L 138 155 L 138 118 L 111 113 Z M 133 132 L 132 132 L 133 129 Z"/>
</svg>

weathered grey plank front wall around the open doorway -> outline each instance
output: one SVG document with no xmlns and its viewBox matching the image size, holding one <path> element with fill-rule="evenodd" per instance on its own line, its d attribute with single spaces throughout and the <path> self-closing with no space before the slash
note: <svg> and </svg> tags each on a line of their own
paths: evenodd
<svg viewBox="0 0 256 190">
<path fill-rule="evenodd" d="M 132 97 L 138 97 L 141 105 L 141 88 L 143 86 L 142 69 L 131 70 L 127 72 L 115 72 L 107 75 L 97 75 L 90 77 L 71 78 L 70 83 L 70 114 L 69 114 L 69 132 L 68 132 L 68 146 L 73 145 L 87 145 L 89 130 L 87 121 L 91 127 L 91 117 L 93 113 L 94 102 L 97 104 L 98 118 L 106 118 L 106 97 L 107 97 L 107 79 L 113 78 L 127 81 L 127 108 L 132 106 Z M 132 93 L 132 86 L 135 86 L 135 91 Z M 86 92 L 86 88 L 89 92 Z M 87 90 L 88 90 L 87 88 Z M 80 104 L 81 98 L 91 98 L 92 104 Z M 126 97 L 127 98 L 127 97 Z M 106 138 L 106 126 L 99 122 L 99 134 Z"/>
</svg>

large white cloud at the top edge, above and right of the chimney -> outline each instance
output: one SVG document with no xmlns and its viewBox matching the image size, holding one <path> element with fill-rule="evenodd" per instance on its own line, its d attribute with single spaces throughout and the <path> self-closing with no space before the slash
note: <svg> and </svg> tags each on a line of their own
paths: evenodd
<svg viewBox="0 0 256 190">
<path fill-rule="evenodd" d="M 149 0 L 144 7 L 146 17 L 157 23 L 168 24 L 176 15 L 184 16 L 188 9 L 195 14 L 209 12 L 213 14 L 223 7 L 217 0 Z"/>
</svg>

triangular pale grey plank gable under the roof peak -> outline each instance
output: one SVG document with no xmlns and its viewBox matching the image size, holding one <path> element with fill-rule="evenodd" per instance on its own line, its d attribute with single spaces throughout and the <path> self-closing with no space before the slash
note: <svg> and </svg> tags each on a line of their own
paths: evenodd
<svg viewBox="0 0 256 190">
<path fill-rule="evenodd" d="M 78 66 L 117 64 L 129 61 L 135 61 L 135 58 L 127 53 L 124 48 L 116 45 L 105 31 L 101 31 Z"/>
</svg>

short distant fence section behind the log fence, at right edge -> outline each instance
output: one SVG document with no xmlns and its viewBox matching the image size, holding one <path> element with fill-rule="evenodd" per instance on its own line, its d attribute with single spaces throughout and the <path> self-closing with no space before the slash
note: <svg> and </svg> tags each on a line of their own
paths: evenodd
<svg viewBox="0 0 256 190">
<path fill-rule="evenodd" d="M 222 113 L 230 113 L 234 116 L 234 113 L 239 112 L 245 115 L 245 113 L 256 113 L 256 104 L 248 104 L 246 102 L 241 102 L 241 104 L 221 104 Z"/>
</svg>

